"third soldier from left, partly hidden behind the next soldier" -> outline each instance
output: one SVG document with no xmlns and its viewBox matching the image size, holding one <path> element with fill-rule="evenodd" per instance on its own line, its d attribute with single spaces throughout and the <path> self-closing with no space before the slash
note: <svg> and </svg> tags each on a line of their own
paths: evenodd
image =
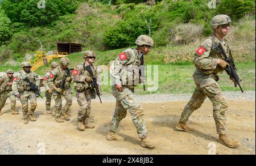
<svg viewBox="0 0 256 166">
<path fill-rule="evenodd" d="M 43 78 L 43 84 L 46 88 L 46 113 L 52 114 L 51 100 L 52 100 L 52 91 L 53 91 L 53 70 L 57 67 L 56 62 L 51 63 L 51 71 L 47 71 L 46 75 Z"/>
</svg>

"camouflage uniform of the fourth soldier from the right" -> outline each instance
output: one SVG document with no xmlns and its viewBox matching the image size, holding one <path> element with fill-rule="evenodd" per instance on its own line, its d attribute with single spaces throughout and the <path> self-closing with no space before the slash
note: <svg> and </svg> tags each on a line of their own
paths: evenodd
<svg viewBox="0 0 256 166">
<path fill-rule="evenodd" d="M 61 58 L 62 59 L 62 58 Z M 65 58 L 67 59 L 67 58 Z M 69 69 L 66 69 L 69 70 Z M 70 83 L 72 80 L 69 80 L 69 82 L 65 82 L 65 87 L 64 90 L 60 89 L 61 83 L 63 82 L 63 78 L 65 76 L 66 70 L 61 69 L 61 66 L 58 66 L 55 70 L 53 70 L 53 84 L 54 84 L 54 91 L 53 91 L 53 97 L 55 100 L 55 116 L 60 117 L 61 114 L 63 116 L 68 114 L 68 109 L 72 105 L 72 91 L 70 89 Z M 72 73 L 69 72 L 69 75 L 67 76 L 71 78 Z M 61 96 L 64 96 L 66 100 L 66 104 L 62 108 L 62 103 L 61 103 Z"/>
</svg>

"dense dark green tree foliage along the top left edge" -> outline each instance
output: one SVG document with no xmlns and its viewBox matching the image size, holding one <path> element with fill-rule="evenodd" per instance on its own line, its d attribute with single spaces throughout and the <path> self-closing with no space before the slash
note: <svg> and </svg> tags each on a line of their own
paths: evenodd
<svg viewBox="0 0 256 166">
<path fill-rule="evenodd" d="M 47 0 L 45 8 L 38 8 L 39 0 L 3 0 L 2 6 L 14 23 L 30 27 L 52 23 L 59 16 L 74 13 L 80 0 Z"/>
</svg>

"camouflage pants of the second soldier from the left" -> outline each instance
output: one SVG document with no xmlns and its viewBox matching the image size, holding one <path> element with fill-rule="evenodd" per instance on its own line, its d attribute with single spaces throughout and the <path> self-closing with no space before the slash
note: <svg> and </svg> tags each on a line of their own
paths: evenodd
<svg viewBox="0 0 256 166">
<path fill-rule="evenodd" d="M 30 100 L 30 110 L 28 110 L 28 100 Z M 33 91 L 20 92 L 20 102 L 22 103 L 23 118 L 27 118 L 28 114 L 34 114 L 36 109 L 36 96 Z"/>
</svg>

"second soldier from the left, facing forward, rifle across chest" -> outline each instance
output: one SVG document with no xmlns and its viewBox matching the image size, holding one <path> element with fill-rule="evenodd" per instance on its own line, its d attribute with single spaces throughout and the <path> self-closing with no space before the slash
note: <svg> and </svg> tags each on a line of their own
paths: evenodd
<svg viewBox="0 0 256 166">
<path fill-rule="evenodd" d="M 38 75 L 30 71 L 31 67 L 32 65 L 30 62 L 23 62 L 23 70 L 20 70 L 13 79 L 13 92 L 16 97 L 20 98 L 20 102 L 22 103 L 24 124 L 28 123 L 28 118 L 30 118 L 31 121 L 36 121 L 36 118 L 34 117 L 36 95 L 34 91 L 31 91 L 28 82 L 24 80 L 28 78 L 30 82 L 35 83 L 35 85 L 39 87 Z M 30 100 L 30 110 L 28 110 L 28 99 Z"/>
</svg>

